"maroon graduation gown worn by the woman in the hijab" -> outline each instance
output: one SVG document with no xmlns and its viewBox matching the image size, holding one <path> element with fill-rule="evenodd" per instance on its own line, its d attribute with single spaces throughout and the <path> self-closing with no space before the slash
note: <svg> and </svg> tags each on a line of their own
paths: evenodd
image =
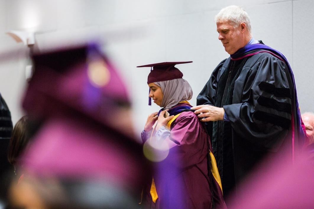
<svg viewBox="0 0 314 209">
<path fill-rule="evenodd" d="M 179 103 L 180 105 L 186 103 Z M 153 136 L 156 130 L 153 131 Z M 146 141 L 147 138 L 142 138 Z M 164 139 L 173 147 L 165 160 L 154 163 L 154 182 L 158 199 L 152 201 L 151 182 L 143 194 L 150 208 L 211 208 L 212 193 L 208 177 L 208 141 L 198 117 L 182 112 L 171 123 L 170 136 Z"/>
</svg>

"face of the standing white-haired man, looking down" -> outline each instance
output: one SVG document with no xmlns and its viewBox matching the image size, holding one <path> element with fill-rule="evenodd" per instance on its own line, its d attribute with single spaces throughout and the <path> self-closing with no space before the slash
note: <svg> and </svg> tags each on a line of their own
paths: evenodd
<svg viewBox="0 0 314 209">
<path fill-rule="evenodd" d="M 229 21 L 222 21 L 217 23 L 218 39 L 225 47 L 225 51 L 232 55 L 238 49 L 242 48 L 244 43 L 244 34 L 241 31 L 241 25 L 234 28 Z"/>
</svg>

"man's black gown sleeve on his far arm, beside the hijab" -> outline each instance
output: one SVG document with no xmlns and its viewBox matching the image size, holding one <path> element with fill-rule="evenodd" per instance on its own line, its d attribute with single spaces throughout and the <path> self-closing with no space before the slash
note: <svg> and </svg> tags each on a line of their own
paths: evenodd
<svg viewBox="0 0 314 209">
<path fill-rule="evenodd" d="M 214 69 L 204 88 L 198 94 L 196 105 L 214 105 L 218 76 L 221 75 L 221 71 L 225 70 L 222 69 L 224 62 L 225 60 L 221 61 Z"/>
</svg>

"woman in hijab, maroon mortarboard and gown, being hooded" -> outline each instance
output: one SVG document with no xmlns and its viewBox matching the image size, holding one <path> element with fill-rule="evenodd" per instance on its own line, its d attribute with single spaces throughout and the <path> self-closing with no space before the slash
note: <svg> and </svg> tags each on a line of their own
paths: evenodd
<svg viewBox="0 0 314 209">
<path fill-rule="evenodd" d="M 153 67 L 149 98 L 162 107 L 149 114 L 141 134 L 144 154 L 154 161 L 153 179 L 143 191 L 143 204 L 150 208 L 225 207 L 217 167 L 209 160 L 209 136 L 187 101 L 192 88 L 175 67 L 190 62 L 138 66 Z"/>
</svg>

